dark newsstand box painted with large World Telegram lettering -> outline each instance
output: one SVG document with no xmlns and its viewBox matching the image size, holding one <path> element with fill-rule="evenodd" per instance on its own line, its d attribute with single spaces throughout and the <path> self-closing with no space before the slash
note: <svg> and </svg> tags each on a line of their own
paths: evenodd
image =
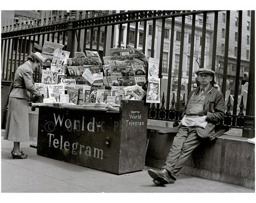
<svg viewBox="0 0 256 203">
<path fill-rule="evenodd" d="M 38 155 L 114 174 L 144 168 L 144 101 L 121 101 L 119 112 L 38 108 Z"/>
</svg>

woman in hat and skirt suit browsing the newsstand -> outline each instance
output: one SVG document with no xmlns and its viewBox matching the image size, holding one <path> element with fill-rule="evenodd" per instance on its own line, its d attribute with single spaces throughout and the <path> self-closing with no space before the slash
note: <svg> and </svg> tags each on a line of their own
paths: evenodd
<svg viewBox="0 0 256 203">
<path fill-rule="evenodd" d="M 13 142 L 11 151 L 13 159 L 27 158 L 27 155 L 20 151 L 19 143 L 29 141 L 28 101 L 30 93 L 35 100 L 41 96 L 34 87 L 33 72 L 39 64 L 42 65 L 42 61 L 43 56 L 39 52 L 31 53 L 27 61 L 17 68 L 14 75 L 3 138 Z"/>
</svg>

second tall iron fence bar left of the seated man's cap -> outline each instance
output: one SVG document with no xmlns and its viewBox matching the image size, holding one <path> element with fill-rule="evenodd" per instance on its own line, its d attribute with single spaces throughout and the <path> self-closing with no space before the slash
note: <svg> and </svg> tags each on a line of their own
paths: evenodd
<svg viewBox="0 0 256 203">
<path fill-rule="evenodd" d="M 179 67 L 178 67 L 178 89 L 177 89 L 177 103 L 176 103 L 177 110 L 179 110 L 179 103 L 180 103 L 180 86 L 181 86 L 181 77 L 182 77 L 184 31 L 185 31 L 185 15 L 182 15 L 181 41 L 180 41 L 180 49 L 179 49 Z"/>
</svg>

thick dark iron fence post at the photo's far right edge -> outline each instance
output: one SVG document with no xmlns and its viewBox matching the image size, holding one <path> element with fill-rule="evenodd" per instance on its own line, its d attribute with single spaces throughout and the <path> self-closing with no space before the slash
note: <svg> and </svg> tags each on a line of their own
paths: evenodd
<svg viewBox="0 0 256 203">
<path fill-rule="evenodd" d="M 250 63 L 249 63 L 249 84 L 246 102 L 246 116 L 254 116 L 254 94 L 255 94 L 255 10 L 251 10 L 250 17 Z"/>
</svg>

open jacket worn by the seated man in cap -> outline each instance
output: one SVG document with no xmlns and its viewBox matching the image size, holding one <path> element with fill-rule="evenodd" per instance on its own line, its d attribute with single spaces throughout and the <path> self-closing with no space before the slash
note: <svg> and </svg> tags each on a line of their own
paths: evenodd
<svg viewBox="0 0 256 203">
<path fill-rule="evenodd" d="M 189 95 L 185 105 L 184 113 L 186 111 L 186 106 L 188 101 L 190 100 L 193 93 L 197 94 L 200 87 L 197 87 L 195 90 L 192 90 Z M 199 137 L 208 138 L 212 135 L 215 124 L 219 121 L 222 121 L 225 116 L 225 102 L 223 95 L 220 91 L 216 90 L 215 88 L 210 87 L 206 90 L 206 96 L 203 104 L 203 115 L 206 115 L 206 121 L 208 122 L 205 129 L 196 127 L 196 132 Z M 182 117 L 183 117 L 182 115 Z"/>
</svg>

